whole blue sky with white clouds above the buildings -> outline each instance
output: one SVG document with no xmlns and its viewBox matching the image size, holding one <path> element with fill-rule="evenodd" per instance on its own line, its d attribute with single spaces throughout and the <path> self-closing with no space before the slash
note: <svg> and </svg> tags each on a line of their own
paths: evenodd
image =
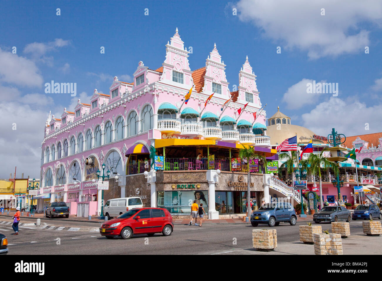
<svg viewBox="0 0 382 281">
<path fill-rule="evenodd" d="M 268 104 L 267 117 L 280 106 L 293 124 L 320 135 L 327 135 L 333 127 L 345 135 L 380 132 L 379 1 L 163 3 L 0 2 L 0 109 L 6 112 L 1 117 L 4 134 L 0 142 L 14 148 L 13 154 L 4 149 L 0 156 L 17 153 L 11 166 L 39 166 L 38 147 L 49 110 L 59 117 L 63 107 L 73 110 L 70 104 L 78 98 L 89 102 L 94 88 L 107 93 L 113 76 L 131 82 L 139 60 L 149 68 L 160 67 L 165 44 L 176 27 L 185 46 L 193 47 L 192 70 L 205 65 L 216 43 L 227 65 L 231 90 L 238 84 L 238 72 L 248 55 L 261 102 Z M 149 9 L 147 16 L 145 8 Z M 325 15 L 321 15 L 322 8 Z M 17 53 L 10 56 L 13 46 Z M 100 54 L 101 46 L 105 54 Z M 276 53 L 278 46 L 281 54 Z M 77 83 L 77 97 L 45 94 L 44 84 L 51 80 Z M 306 83 L 311 80 L 338 83 L 338 96 L 307 94 Z M 25 120 L 28 115 L 33 122 Z M 17 130 L 11 129 L 13 123 Z M 365 130 L 366 123 L 369 130 Z M 5 170 L 4 177 L 9 175 L 9 165 L 0 169 Z"/>
</svg>

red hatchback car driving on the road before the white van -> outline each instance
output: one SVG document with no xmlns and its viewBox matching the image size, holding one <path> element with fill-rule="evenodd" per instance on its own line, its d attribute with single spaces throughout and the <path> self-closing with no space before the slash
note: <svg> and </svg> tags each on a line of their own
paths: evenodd
<svg viewBox="0 0 382 281">
<path fill-rule="evenodd" d="M 99 233 L 108 239 L 117 236 L 129 239 L 133 234 L 153 236 L 160 232 L 164 236 L 170 236 L 173 229 L 172 216 L 166 209 L 134 208 L 117 218 L 105 221 L 99 228 Z"/>
</svg>

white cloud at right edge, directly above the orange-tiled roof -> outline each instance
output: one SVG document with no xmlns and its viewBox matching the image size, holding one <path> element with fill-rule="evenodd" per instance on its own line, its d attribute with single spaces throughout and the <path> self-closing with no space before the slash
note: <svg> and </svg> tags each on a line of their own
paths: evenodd
<svg viewBox="0 0 382 281">
<path fill-rule="evenodd" d="M 301 115 L 302 126 L 317 135 L 326 136 L 332 128 L 346 136 L 380 132 L 382 127 L 382 104 L 367 107 L 364 102 L 354 99 L 330 97 L 309 113 Z M 365 130 L 366 123 L 369 130 Z"/>
</svg>

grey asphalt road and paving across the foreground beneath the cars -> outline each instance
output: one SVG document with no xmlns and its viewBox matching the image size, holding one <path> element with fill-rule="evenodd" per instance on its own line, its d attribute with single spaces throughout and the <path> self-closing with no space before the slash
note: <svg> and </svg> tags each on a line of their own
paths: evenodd
<svg viewBox="0 0 382 281">
<path fill-rule="evenodd" d="M 378 220 L 379 221 L 379 220 Z M 65 222 L 64 222 L 65 224 Z M 69 223 L 66 223 L 68 226 Z M 89 223 L 74 223 L 77 227 L 89 227 Z M 94 231 L 67 231 L 39 229 L 35 226 L 20 227 L 18 236 L 11 235 L 10 225 L 0 225 L 0 231 L 8 238 L 10 255 L 33 253 L 81 255 L 81 254 L 314 254 L 314 246 L 299 241 L 298 225 L 290 226 L 281 223 L 277 230 L 278 247 L 273 252 L 258 252 L 252 247 L 252 227 L 250 224 L 175 226 L 171 236 L 155 234 L 134 236 L 131 239 L 106 239 Z M 52 222 L 50 222 L 52 225 Z M 57 223 L 54 225 L 58 225 Z M 329 229 L 330 224 L 322 223 L 322 230 Z M 91 224 L 96 227 L 98 224 Z M 270 228 L 267 225 L 256 228 Z M 8 230 L 7 230 L 8 229 Z M 7 231 L 5 231 L 7 230 Z M 351 236 L 342 239 L 343 253 L 346 254 L 380 254 L 381 237 L 369 237 L 363 234 L 362 221 L 350 223 Z"/>
</svg>

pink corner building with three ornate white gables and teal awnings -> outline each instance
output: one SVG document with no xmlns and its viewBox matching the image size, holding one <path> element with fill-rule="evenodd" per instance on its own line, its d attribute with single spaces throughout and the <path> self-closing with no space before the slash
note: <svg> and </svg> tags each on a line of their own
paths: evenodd
<svg viewBox="0 0 382 281">
<path fill-rule="evenodd" d="M 197 189 L 184 190 L 183 198 L 192 199 L 197 190 L 202 191 L 203 195 L 199 192 L 197 196 L 206 200 L 205 206 L 210 210 L 218 212 L 221 204 L 217 201 L 222 197 L 217 197 L 212 188 L 216 186 L 217 177 L 209 176 L 216 169 L 207 169 L 203 160 L 207 155 L 214 153 L 216 167 L 222 172 L 232 172 L 230 158 L 236 155 L 239 143 L 256 145 L 257 150 L 274 159 L 276 151 L 271 149 L 266 132 L 253 130 L 265 124 L 266 113 L 263 110 L 254 123 L 253 113 L 259 112 L 262 105 L 248 57 L 243 58 L 238 86 L 230 92 L 226 65 L 216 45 L 207 56 L 205 66 L 197 70 L 190 68 L 189 52 L 177 29 L 165 47 L 162 66 L 151 69 L 140 61 L 133 73 L 133 83 L 114 77 L 107 94 L 94 89 L 90 101 L 78 100 L 75 108 L 68 109 L 72 111 L 65 108 L 59 118 L 49 116 L 42 140 L 40 195 L 50 194 L 51 202 L 67 202 L 71 214 L 99 214 L 101 193 L 92 179 L 97 169 L 102 174 L 101 165 L 105 163 L 105 172 L 110 170 L 117 174 L 112 174 L 104 200 L 139 196 L 144 206 L 168 206 L 170 203 L 174 206 L 180 204 L 181 195 L 174 190 L 173 184 L 187 182 Z M 191 97 L 183 104 L 191 87 Z M 204 109 L 212 93 L 214 96 Z M 233 101 L 222 111 L 223 104 L 231 97 Z M 239 116 L 238 109 L 247 103 Z M 165 156 L 164 171 L 151 167 L 153 148 L 155 154 Z M 196 159 L 198 153 L 201 153 L 201 160 Z M 144 171 L 149 172 L 147 178 Z M 259 185 L 257 189 L 254 192 L 262 192 L 264 188 Z M 227 191 L 224 192 L 226 196 Z M 241 200 L 243 194 L 227 196 L 240 196 Z M 229 210 L 239 212 L 241 201 L 227 197 L 226 202 L 229 200 L 233 203 L 231 209 L 227 204 L 227 213 Z M 181 205 L 171 210 L 180 212 Z M 184 213 L 188 213 L 187 207 L 188 202 Z M 44 201 L 40 200 L 37 209 L 43 208 Z"/>
</svg>

